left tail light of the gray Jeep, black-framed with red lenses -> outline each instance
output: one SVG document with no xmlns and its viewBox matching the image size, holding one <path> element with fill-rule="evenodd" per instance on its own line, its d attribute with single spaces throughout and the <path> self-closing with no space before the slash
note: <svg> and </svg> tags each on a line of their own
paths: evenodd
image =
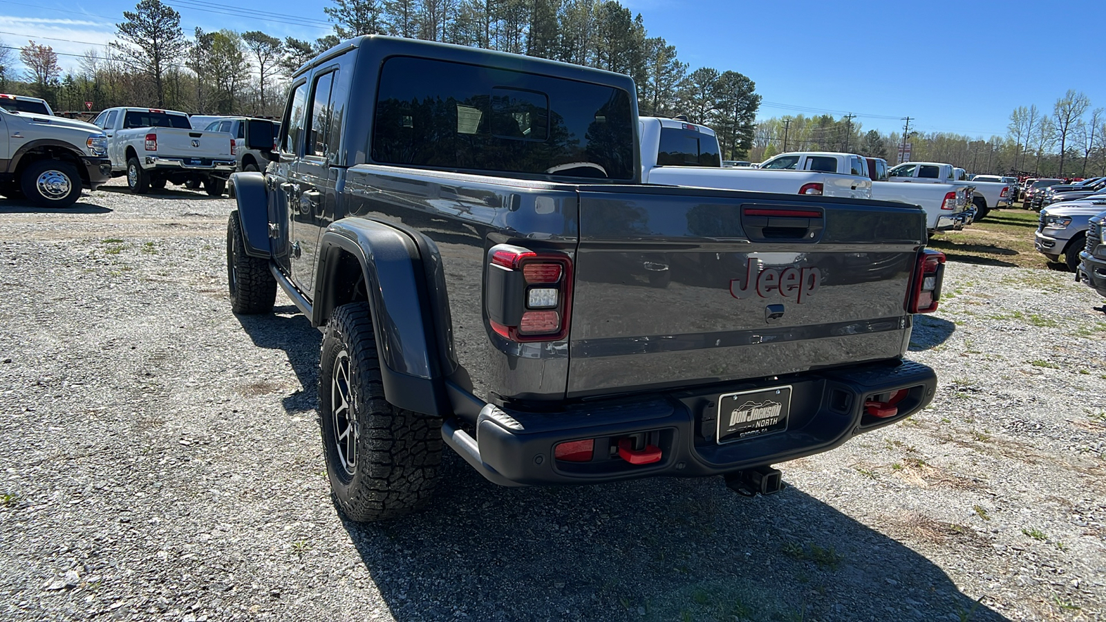
<svg viewBox="0 0 1106 622">
<path fill-rule="evenodd" d="M 572 259 L 513 245 L 488 251 L 484 308 L 491 330 L 517 342 L 568 335 Z"/>
</svg>

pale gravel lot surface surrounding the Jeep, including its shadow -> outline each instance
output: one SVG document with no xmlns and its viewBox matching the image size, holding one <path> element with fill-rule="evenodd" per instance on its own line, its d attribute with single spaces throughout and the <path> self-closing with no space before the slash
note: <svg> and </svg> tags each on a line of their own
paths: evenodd
<svg viewBox="0 0 1106 622">
<path fill-rule="evenodd" d="M 1102 620 L 1106 312 L 1070 274 L 949 265 L 910 356 L 932 406 L 721 479 L 507 489 L 343 522 L 320 333 L 236 318 L 229 199 L 0 201 L 6 620 Z M 1031 230 L 1026 229 L 1026 235 Z"/>
</svg>

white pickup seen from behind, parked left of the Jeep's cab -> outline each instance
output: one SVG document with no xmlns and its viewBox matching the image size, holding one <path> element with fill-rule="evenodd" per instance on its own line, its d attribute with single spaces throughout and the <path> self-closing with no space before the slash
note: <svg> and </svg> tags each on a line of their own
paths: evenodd
<svg viewBox="0 0 1106 622">
<path fill-rule="evenodd" d="M 126 175 L 135 194 L 164 188 L 166 182 L 191 182 L 221 196 L 234 172 L 234 137 L 192 129 L 182 112 L 107 108 L 93 123 L 107 134 L 113 175 Z"/>
</svg>

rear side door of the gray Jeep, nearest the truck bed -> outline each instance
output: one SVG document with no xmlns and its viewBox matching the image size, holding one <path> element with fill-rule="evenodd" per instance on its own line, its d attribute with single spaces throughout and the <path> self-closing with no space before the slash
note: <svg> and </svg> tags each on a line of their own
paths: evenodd
<svg viewBox="0 0 1106 622">
<path fill-rule="evenodd" d="M 293 193 L 289 196 L 290 249 L 292 279 L 309 297 L 315 281 L 319 236 L 326 219 L 327 197 L 333 200 L 334 179 L 331 177 L 330 142 L 331 90 L 337 70 L 315 73 L 303 133 L 303 157 L 290 174 Z M 337 173 L 337 170 L 335 170 Z"/>
</svg>

